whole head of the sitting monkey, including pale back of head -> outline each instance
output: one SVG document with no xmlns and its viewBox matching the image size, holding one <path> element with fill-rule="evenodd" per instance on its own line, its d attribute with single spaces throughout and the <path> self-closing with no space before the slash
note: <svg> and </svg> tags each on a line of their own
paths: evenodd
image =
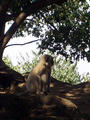
<svg viewBox="0 0 90 120">
<path fill-rule="evenodd" d="M 41 57 L 41 61 L 50 67 L 53 66 L 53 64 L 54 64 L 53 57 L 51 55 L 47 55 L 47 54 L 45 54 Z"/>
</svg>

